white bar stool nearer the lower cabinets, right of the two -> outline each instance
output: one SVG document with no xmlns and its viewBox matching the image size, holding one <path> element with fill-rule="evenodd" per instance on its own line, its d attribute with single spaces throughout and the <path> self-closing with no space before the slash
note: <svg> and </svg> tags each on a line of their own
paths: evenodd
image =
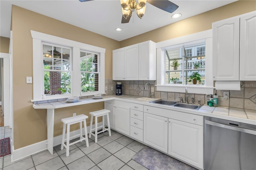
<svg viewBox="0 0 256 170">
<path fill-rule="evenodd" d="M 97 143 L 97 135 L 101 132 L 105 132 L 108 131 L 109 136 L 111 136 L 111 131 L 110 131 L 110 123 L 109 123 L 109 117 L 108 117 L 108 113 L 110 112 L 110 110 L 107 109 L 102 109 L 99 111 L 94 111 L 94 112 L 90 112 L 91 115 L 91 122 L 90 122 L 90 132 L 89 132 L 89 138 L 91 137 L 91 135 L 93 135 L 95 137 L 95 143 Z M 108 122 L 108 128 L 105 128 L 105 121 L 104 121 L 104 117 L 107 117 L 107 122 Z M 102 116 L 102 126 L 98 127 L 98 117 Z M 93 121 L 93 117 L 95 117 L 95 128 L 92 128 L 92 121 Z M 102 130 L 100 132 L 98 132 L 98 128 L 102 128 Z M 92 133 L 92 131 L 94 131 L 94 133 Z"/>
</svg>

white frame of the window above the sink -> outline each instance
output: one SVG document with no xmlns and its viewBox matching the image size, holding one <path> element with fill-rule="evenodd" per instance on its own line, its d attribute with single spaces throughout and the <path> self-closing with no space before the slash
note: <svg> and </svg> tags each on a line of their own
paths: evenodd
<svg viewBox="0 0 256 170">
<path fill-rule="evenodd" d="M 180 85 L 180 84 L 166 84 L 165 82 L 165 52 L 170 46 L 179 47 L 181 44 L 185 46 L 205 42 L 206 48 L 206 69 L 205 69 L 205 85 Z M 213 79 L 212 79 L 212 30 L 206 30 L 187 36 L 173 38 L 163 42 L 156 43 L 156 56 L 157 56 L 157 79 L 156 79 L 156 90 L 157 91 L 175 91 L 185 93 L 185 88 L 188 88 L 188 93 L 197 94 L 213 94 Z"/>
</svg>

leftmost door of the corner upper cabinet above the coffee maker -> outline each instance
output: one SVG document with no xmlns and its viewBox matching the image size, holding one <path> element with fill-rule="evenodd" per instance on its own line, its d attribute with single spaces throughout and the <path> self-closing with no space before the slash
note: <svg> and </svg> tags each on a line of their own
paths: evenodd
<svg viewBox="0 0 256 170">
<path fill-rule="evenodd" d="M 113 50 L 113 80 L 124 80 L 124 48 Z"/>
</svg>

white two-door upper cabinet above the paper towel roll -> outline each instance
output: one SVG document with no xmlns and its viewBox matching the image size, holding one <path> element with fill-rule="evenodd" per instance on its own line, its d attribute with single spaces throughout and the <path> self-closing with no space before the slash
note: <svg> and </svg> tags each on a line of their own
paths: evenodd
<svg viewBox="0 0 256 170">
<path fill-rule="evenodd" d="M 256 11 L 212 23 L 213 80 L 256 81 Z"/>
</svg>

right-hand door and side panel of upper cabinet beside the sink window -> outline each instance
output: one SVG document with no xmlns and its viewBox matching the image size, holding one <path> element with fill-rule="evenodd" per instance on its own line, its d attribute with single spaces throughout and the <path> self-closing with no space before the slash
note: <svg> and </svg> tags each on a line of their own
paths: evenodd
<svg viewBox="0 0 256 170">
<path fill-rule="evenodd" d="M 156 43 L 139 43 L 139 80 L 156 80 Z"/>
</svg>

